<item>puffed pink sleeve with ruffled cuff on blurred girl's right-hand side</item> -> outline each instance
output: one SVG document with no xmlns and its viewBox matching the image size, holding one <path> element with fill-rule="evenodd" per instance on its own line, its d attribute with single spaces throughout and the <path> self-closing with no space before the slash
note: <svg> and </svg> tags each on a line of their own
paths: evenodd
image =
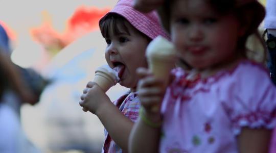
<svg viewBox="0 0 276 153">
<path fill-rule="evenodd" d="M 276 123 L 276 87 L 259 65 L 245 65 L 232 74 L 224 86 L 222 104 L 233 124 L 235 135 L 242 127 L 273 129 Z M 226 97 L 226 98 L 225 98 Z"/>
</svg>

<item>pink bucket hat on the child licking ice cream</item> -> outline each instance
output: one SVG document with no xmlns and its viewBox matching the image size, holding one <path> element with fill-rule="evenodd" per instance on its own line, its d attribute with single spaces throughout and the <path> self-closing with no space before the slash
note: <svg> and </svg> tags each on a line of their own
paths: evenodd
<svg viewBox="0 0 276 153">
<path fill-rule="evenodd" d="M 149 13 L 139 12 L 132 7 L 132 2 L 133 0 L 119 0 L 116 6 L 114 6 L 114 8 L 107 14 L 116 13 L 123 16 L 134 28 L 151 39 L 154 39 L 159 35 L 170 39 L 169 34 L 163 30 L 155 11 Z"/>
</svg>

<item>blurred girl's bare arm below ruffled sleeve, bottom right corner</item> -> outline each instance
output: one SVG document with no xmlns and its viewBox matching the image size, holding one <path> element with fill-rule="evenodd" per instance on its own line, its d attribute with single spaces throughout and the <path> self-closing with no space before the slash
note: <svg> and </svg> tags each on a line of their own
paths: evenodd
<svg viewBox="0 0 276 153">
<path fill-rule="evenodd" d="M 271 131 L 244 127 L 237 137 L 240 153 L 268 152 Z"/>
</svg>

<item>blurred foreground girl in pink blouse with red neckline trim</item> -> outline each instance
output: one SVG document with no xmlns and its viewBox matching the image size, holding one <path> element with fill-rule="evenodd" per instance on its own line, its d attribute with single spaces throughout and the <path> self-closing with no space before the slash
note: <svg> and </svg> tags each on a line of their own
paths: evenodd
<svg viewBox="0 0 276 153">
<path fill-rule="evenodd" d="M 173 69 L 165 95 L 148 69 L 137 70 L 142 107 L 130 152 L 267 152 L 276 88 L 245 47 L 264 18 L 263 6 L 174 0 L 158 10 L 179 59 L 192 69 Z M 161 102 L 160 112 L 152 112 Z"/>
</svg>

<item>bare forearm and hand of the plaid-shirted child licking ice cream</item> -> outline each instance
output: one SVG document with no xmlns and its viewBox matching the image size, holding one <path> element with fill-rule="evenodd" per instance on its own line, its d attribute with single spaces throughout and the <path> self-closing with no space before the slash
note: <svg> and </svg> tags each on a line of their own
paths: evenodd
<svg viewBox="0 0 276 153">
<path fill-rule="evenodd" d="M 80 106 L 97 115 L 111 138 L 123 150 L 128 150 L 128 138 L 133 122 L 112 104 L 109 97 L 94 82 L 89 82 L 81 95 Z"/>
</svg>

